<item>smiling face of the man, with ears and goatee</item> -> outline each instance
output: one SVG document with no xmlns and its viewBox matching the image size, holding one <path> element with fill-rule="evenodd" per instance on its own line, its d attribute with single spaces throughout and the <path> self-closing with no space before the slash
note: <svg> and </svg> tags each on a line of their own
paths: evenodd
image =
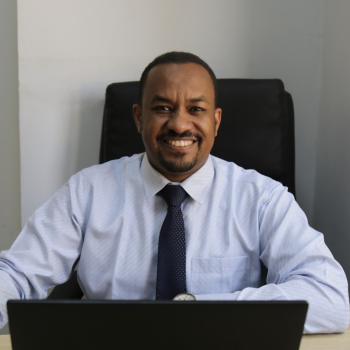
<svg viewBox="0 0 350 350">
<path fill-rule="evenodd" d="M 208 159 L 221 121 L 209 73 L 195 63 L 161 64 L 148 74 L 142 108 L 133 106 L 151 165 L 181 182 Z"/>
</svg>

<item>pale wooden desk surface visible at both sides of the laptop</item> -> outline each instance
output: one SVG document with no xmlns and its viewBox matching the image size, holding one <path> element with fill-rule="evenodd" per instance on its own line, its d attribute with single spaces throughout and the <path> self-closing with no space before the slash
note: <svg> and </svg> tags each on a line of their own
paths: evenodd
<svg viewBox="0 0 350 350">
<path fill-rule="evenodd" d="M 9 335 L 0 335 L 0 350 L 11 350 Z M 349 350 L 350 327 L 342 334 L 312 334 L 304 335 L 300 350 Z"/>
</svg>

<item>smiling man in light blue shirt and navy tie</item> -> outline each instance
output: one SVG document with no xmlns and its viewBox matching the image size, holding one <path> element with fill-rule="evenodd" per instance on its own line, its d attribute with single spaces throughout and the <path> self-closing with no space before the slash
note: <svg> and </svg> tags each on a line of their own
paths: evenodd
<svg viewBox="0 0 350 350">
<path fill-rule="evenodd" d="M 90 299 L 307 300 L 305 332 L 344 331 L 345 274 L 293 196 L 210 156 L 221 121 L 210 67 L 156 58 L 133 111 L 146 153 L 74 175 L 1 253 L 1 324 L 7 299 L 45 298 L 80 257 Z"/>
</svg>

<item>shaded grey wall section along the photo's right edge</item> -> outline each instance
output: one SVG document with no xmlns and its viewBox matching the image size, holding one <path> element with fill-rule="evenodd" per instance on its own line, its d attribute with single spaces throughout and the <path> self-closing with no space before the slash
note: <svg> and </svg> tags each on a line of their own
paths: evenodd
<svg viewBox="0 0 350 350">
<path fill-rule="evenodd" d="M 350 1 L 327 1 L 314 225 L 350 279 Z"/>
</svg>

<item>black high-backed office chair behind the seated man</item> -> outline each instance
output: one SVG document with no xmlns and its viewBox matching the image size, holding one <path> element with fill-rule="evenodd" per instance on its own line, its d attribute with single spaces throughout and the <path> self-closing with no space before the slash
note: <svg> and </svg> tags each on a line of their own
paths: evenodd
<svg viewBox="0 0 350 350">
<path fill-rule="evenodd" d="M 107 87 L 100 163 L 145 150 L 131 108 L 138 100 L 138 85 L 126 82 Z M 223 113 L 211 153 L 280 181 L 295 196 L 293 101 L 282 81 L 218 79 L 218 88 Z M 263 284 L 266 269 L 262 268 Z M 82 295 L 73 272 L 49 299 L 80 299 Z"/>
</svg>

